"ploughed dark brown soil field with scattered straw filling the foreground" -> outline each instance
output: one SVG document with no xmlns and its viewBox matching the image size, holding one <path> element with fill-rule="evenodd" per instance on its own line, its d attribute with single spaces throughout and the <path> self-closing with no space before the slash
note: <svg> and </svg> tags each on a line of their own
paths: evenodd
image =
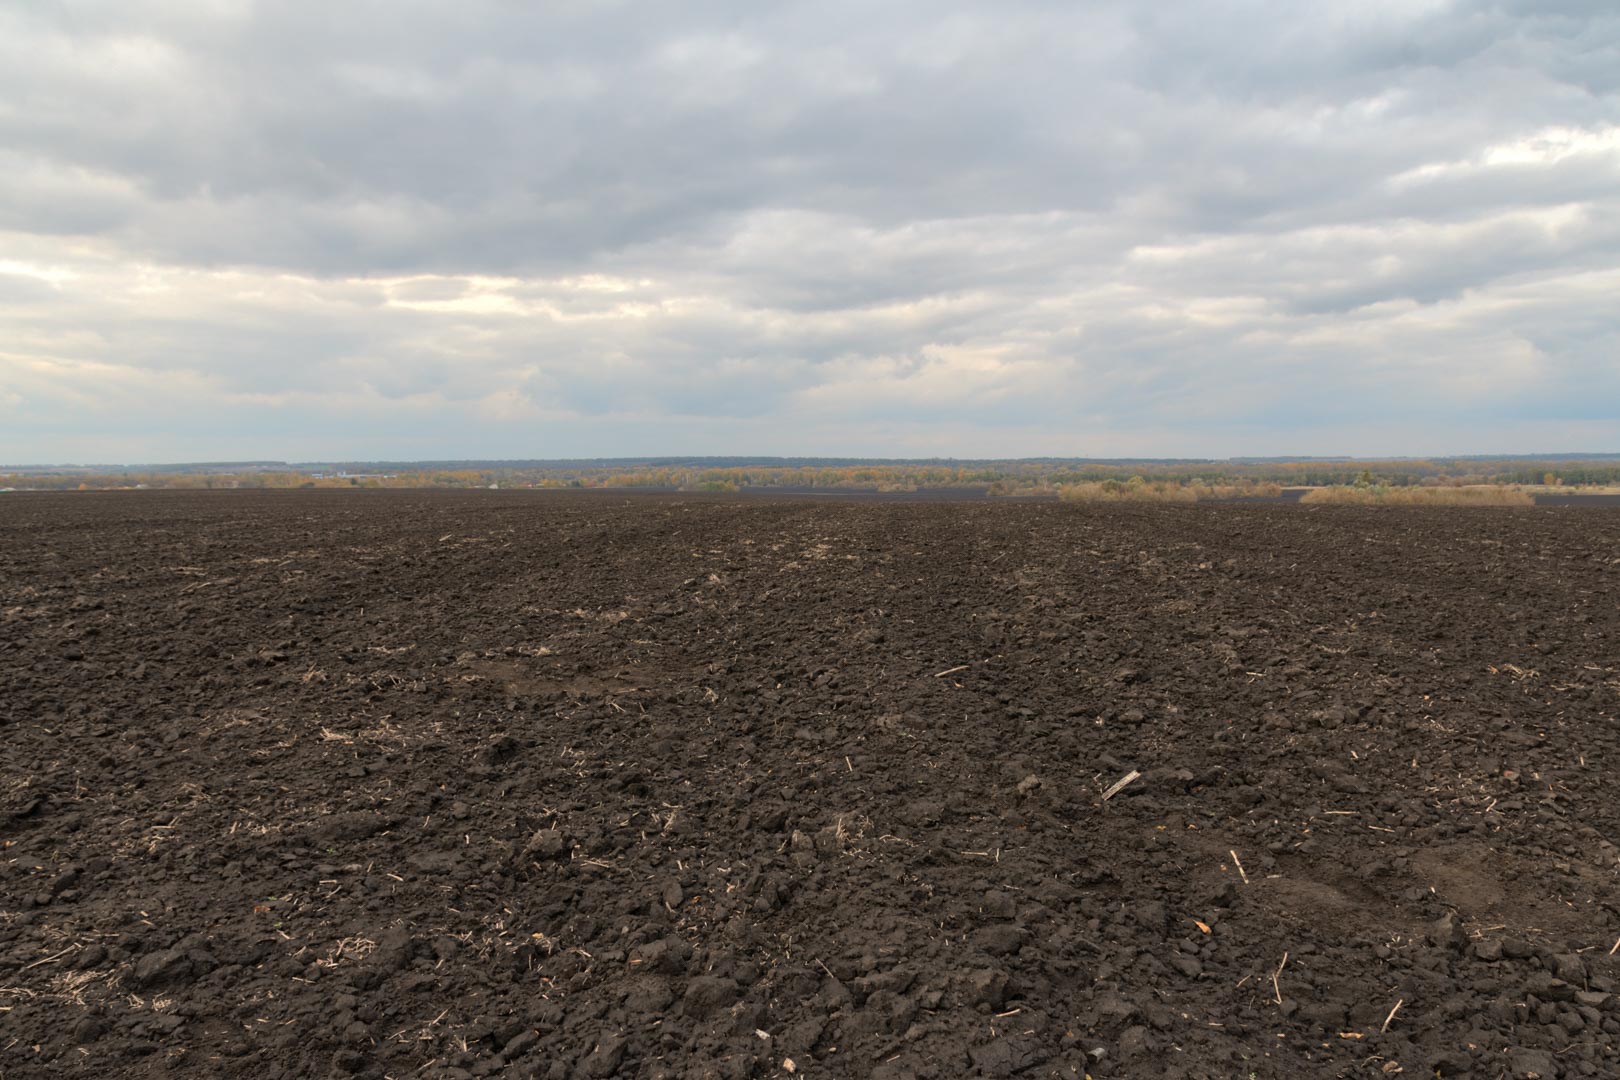
<svg viewBox="0 0 1620 1080">
<path fill-rule="evenodd" d="M 8 1078 L 1620 1075 L 1614 510 L 0 541 Z"/>
</svg>

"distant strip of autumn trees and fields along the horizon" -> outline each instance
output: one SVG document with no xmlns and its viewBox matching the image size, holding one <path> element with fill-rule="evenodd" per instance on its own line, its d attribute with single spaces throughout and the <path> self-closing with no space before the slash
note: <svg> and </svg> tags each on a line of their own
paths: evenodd
<svg viewBox="0 0 1620 1080">
<path fill-rule="evenodd" d="M 625 487 L 664 491 L 978 489 L 1056 494 L 1076 484 L 1461 487 L 1620 486 L 1620 455 L 1230 460 L 588 458 L 572 461 L 217 461 L 0 466 L 0 489 Z"/>
</svg>

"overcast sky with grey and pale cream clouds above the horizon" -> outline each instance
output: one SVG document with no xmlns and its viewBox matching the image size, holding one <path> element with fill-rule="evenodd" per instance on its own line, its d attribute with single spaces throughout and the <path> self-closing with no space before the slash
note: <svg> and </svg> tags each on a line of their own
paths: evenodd
<svg viewBox="0 0 1620 1080">
<path fill-rule="evenodd" d="M 0 461 L 1620 450 L 1614 0 L 10 0 Z"/>
</svg>

